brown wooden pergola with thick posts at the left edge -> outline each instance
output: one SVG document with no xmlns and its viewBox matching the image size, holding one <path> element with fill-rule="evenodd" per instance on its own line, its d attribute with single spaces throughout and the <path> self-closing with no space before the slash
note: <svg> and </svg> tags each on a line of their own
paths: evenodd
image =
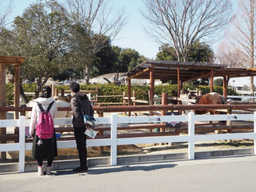
<svg viewBox="0 0 256 192">
<path fill-rule="evenodd" d="M 20 106 L 20 65 L 24 60 L 25 57 L 0 56 L 0 107 L 6 107 L 6 67 L 15 68 L 14 107 Z M 6 119 L 6 111 L 0 111 L 0 119 Z M 14 113 L 14 119 L 19 119 L 19 112 Z M 6 129 L 1 128 L 0 134 L 1 133 L 6 133 Z M 6 152 L 1 152 L 1 159 L 5 158 Z"/>
</svg>

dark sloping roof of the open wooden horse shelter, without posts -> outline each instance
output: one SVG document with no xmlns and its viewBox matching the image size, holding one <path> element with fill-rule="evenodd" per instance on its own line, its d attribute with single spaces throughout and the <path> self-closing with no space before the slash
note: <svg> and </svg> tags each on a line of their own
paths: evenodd
<svg viewBox="0 0 256 192">
<path fill-rule="evenodd" d="M 127 79 L 150 79 L 151 67 L 154 79 L 160 80 L 177 80 L 177 68 L 180 68 L 180 80 L 183 82 L 208 78 L 211 76 L 211 70 L 214 71 L 214 77 L 256 76 L 256 68 L 224 68 L 224 65 L 216 63 L 146 60 L 127 72 Z"/>
</svg>

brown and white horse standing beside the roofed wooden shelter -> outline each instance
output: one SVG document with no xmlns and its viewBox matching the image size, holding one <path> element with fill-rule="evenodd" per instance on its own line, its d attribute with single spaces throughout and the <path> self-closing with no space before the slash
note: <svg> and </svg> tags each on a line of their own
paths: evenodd
<svg viewBox="0 0 256 192">
<path fill-rule="evenodd" d="M 173 97 L 177 97 L 178 96 L 178 92 L 174 91 L 172 92 L 172 96 Z M 194 97 L 196 100 L 198 100 L 198 103 L 196 104 L 200 104 L 200 105 L 218 105 L 218 104 L 226 104 L 226 99 L 220 95 L 219 93 L 215 93 L 215 92 L 211 92 L 211 93 L 207 93 L 205 95 L 202 96 L 198 96 L 188 90 L 181 90 L 180 92 L 180 98 L 183 99 L 189 99 L 191 97 Z M 173 102 L 171 102 L 172 104 L 176 104 L 177 105 L 177 100 L 173 100 Z M 181 104 L 183 105 L 187 105 L 188 101 L 182 101 Z M 185 114 L 187 114 L 188 111 L 185 111 Z M 205 110 L 196 110 L 195 114 L 196 115 L 203 115 L 206 113 L 209 113 L 210 115 L 220 115 L 220 114 L 224 114 L 224 112 L 219 112 L 216 110 L 209 110 L 209 109 L 205 109 Z M 223 123 L 226 123 L 226 121 L 221 121 Z M 221 133 L 221 131 L 215 131 L 215 133 Z"/>
</svg>

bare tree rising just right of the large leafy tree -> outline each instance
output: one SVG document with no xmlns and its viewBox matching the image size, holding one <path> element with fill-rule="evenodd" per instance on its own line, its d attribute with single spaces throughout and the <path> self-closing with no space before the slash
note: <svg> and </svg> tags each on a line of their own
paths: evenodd
<svg viewBox="0 0 256 192">
<path fill-rule="evenodd" d="M 108 6 L 107 0 L 66 0 L 75 25 L 82 28 L 82 40 L 78 46 L 78 56 L 84 65 L 84 77 L 89 82 L 89 74 L 95 54 L 108 41 L 116 38 L 117 34 L 125 26 L 127 17 L 124 9 L 114 11 L 114 7 Z M 112 14 L 112 13 L 115 13 Z"/>
</svg>

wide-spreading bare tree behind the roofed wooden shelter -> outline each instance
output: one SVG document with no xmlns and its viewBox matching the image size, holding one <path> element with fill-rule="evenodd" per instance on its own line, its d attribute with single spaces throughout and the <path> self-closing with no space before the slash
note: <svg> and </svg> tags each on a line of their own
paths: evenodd
<svg viewBox="0 0 256 192">
<path fill-rule="evenodd" d="M 232 12 L 229 0 L 144 0 L 144 5 L 141 14 L 152 25 L 145 31 L 157 42 L 170 43 L 178 61 L 187 61 L 197 41 L 218 40 Z"/>
</svg>

